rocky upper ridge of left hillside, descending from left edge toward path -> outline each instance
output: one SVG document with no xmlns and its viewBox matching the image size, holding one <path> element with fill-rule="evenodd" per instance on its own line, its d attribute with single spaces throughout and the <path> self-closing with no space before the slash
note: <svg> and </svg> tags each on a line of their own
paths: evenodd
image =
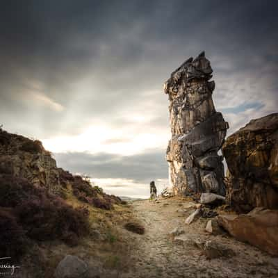
<svg viewBox="0 0 278 278">
<path fill-rule="evenodd" d="M 81 202 L 98 208 L 111 209 L 113 204 L 121 203 L 119 197 L 107 195 L 83 177 L 57 167 L 55 159 L 39 140 L 0 129 L 0 177 L 2 174 L 24 178 L 36 188 L 63 198 L 73 193 Z"/>
</svg>

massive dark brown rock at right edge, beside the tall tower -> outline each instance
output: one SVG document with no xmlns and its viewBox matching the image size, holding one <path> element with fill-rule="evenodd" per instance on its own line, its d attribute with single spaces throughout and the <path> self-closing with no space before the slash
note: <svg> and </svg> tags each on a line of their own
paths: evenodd
<svg viewBox="0 0 278 278">
<path fill-rule="evenodd" d="M 222 147 L 227 196 L 238 212 L 278 208 L 278 113 L 252 120 Z"/>
</svg>

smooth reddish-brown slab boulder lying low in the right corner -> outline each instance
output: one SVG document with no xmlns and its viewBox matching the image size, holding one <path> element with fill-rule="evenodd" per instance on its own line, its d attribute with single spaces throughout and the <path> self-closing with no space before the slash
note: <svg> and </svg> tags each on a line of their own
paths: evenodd
<svg viewBox="0 0 278 278">
<path fill-rule="evenodd" d="M 217 220 L 237 240 L 278 256 L 278 211 L 254 208 L 248 214 L 219 215 Z"/>
</svg>

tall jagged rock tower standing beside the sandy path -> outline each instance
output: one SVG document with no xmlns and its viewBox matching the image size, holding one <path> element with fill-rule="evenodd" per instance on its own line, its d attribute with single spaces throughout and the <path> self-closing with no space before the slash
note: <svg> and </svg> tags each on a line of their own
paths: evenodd
<svg viewBox="0 0 278 278">
<path fill-rule="evenodd" d="M 164 83 L 172 131 L 166 158 L 175 195 L 225 194 L 224 167 L 218 150 L 229 126 L 222 114 L 215 112 L 215 83 L 209 81 L 212 72 L 202 52 L 195 60 L 186 60 Z"/>
</svg>

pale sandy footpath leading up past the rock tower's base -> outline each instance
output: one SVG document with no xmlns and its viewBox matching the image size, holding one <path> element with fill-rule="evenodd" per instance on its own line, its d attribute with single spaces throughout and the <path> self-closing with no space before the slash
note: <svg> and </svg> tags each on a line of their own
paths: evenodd
<svg viewBox="0 0 278 278">
<path fill-rule="evenodd" d="M 179 197 L 133 202 L 133 218 L 144 224 L 145 234 L 123 230 L 133 247 L 126 262 L 129 271 L 120 271 L 118 277 L 278 277 L 277 258 L 228 235 L 206 233 L 207 219 L 185 224 L 186 217 L 194 211 L 187 208 L 188 204 Z M 175 227 L 182 227 L 183 238 L 188 240 L 173 240 L 169 233 Z M 196 240 L 213 240 L 229 247 L 236 255 L 209 260 L 194 244 Z"/>
</svg>

